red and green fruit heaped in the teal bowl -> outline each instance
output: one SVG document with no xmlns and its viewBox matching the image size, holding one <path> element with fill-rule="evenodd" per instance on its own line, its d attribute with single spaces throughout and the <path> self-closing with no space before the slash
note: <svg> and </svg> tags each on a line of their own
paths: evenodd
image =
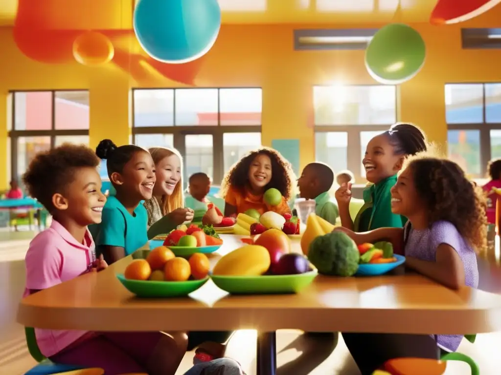
<svg viewBox="0 0 501 375">
<path fill-rule="evenodd" d="M 181 225 L 172 230 L 165 238 L 165 246 L 200 247 L 222 244 L 222 239 L 212 225 L 198 227 L 196 224 Z"/>
</svg>

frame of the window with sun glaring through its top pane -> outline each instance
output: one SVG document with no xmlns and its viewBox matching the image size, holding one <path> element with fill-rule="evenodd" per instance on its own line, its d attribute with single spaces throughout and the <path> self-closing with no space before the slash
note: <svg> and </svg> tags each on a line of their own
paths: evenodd
<svg viewBox="0 0 501 375">
<path fill-rule="evenodd" d="M 316 86 L 330 87 L 330 84 L 314 84 L 312 86 L 312 102 L 313 90 Z M 371 87 L 371 86 L 387 86 L 383 84 L 345 84 L 346 87 Z M 395 86 L 395 122 L 398 122 L 398 86 Z M 345 132 L 348 135 L 347 144 L 347 169 L 351 170 L 356 179 L 364 178 L 360 174 L 360 165 L 362 164 L 362 148 L 360 144 L 360 134 L 365 131 L 385 131 L 390 128 L 393 123 L 389 124 L 343 124 L 343 125 L 317 125 L 315 123 L 315 103 L 313 102 L 313 130 L 316 133 L 322 132 Z M 315 144 L 315 155 L 317 153 L 317 145 Z M 335 170 L 334 173 L 339 172 Z"/>
</svg>

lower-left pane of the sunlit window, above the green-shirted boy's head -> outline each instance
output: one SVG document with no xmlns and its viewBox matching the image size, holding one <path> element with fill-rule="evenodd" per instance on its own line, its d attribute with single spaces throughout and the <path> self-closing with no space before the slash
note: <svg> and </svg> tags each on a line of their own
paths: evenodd
<svg viewBox="0 0 501 375">
<path fill-rule="evenodd" d="M 348 133 L 343 131 L 315 132 L 315 159 L 324 162 L 335 173 L 348 168 Z"/>
</svg>

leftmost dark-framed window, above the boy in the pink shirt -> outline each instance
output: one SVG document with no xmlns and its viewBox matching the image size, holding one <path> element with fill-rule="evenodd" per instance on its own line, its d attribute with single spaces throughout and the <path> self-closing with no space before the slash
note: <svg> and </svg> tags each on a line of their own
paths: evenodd
<svg viewBox="0 0 501 375">
<path fill-rule="evenodd" d="M 21 181 L 33 157 L 65 142 L 89 144 L 89 91 L 15 91 L 11 175 Z"/>
</svg>

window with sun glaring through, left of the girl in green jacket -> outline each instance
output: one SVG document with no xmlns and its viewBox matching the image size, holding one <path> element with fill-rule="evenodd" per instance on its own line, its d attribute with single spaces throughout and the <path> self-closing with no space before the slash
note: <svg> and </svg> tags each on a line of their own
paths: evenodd
<svg viewBox="0 0 501 375">
<path fill-rule="evenodd" d="M 396 122 L 396 87 L 314 86 L 315 157 L 334 172 L 360 167 L 369 140 Z"/>
</svg>

